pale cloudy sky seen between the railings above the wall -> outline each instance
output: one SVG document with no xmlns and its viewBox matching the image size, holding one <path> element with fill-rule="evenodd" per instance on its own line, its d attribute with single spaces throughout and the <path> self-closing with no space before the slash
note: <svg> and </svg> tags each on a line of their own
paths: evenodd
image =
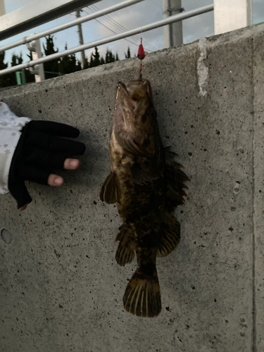
<svg viewBox="0 0 264 352">
<path fill-rule="evenodd" d="M 5 0 L 6 13 L 15 11 L 18 8 L 27 6 L 36 0 Z M 43 1 L 43 0 L 39 0 Z M 54 0 L 55 2 L 56 0 Z M 99 9 L 108 8 L 114 4 L 118 4 L 124 0 L 101 0 L 92 6 L 88 6 L 82 9 L 81 16 L 94 13 Z M 82 32 L 84 37 L 84 44 L 94 42 L 98 39 L 105 37 L 111 37 L 115 33 L 124 32 L 125 30 L 132 30 L 142 25 L 153 23 L 163 18 L 163 1 L 162 0 L 145 0 L 139 4 L 134 4 L 128 8 L 123 8 L 120 11 L 111 13 L 108 16 L 92 20 L 87 23 L 82 23 Z M 189 11 L 195 8 L 213 4 L 213 0 L 182 0 L 182 7 L 185 11 Z M 43 32 L 44 30 L 51 29 L 58 25 L 68 23 L 75 19 L 75 13 L 70 13 L 61 18 L 53 20 L 44 25 L 35 27 L 32 30 L 20 33 L 9 39 L 5 39 L 0 42 L 0 46 L 5 46 L 16 42 L 23 37 L 27 37 L 32 33 Z M 264 1 L 253 0 L 253 23 L 264 22 Z M 194 42 L 196 39 L 202 37 L 210 37 L 213 35 L 213 11 L 210 13 L 204 13 L 193 18 L 189 18 L 182 22 L 183 27 L 183 42 L 184 44 Z M 114 54 L 118 53 L 120 59 L 125 58 L 125 52 L 127 47 L 130 46 L 132 56 L 137 54 L 137 49 L 140 44 L 140 35 L 129 37 L 127 39 L 121 39 L 118 42 L 113 42 L 99 46 L 99 54 L 105 56 L 106 50 L 110 49 Z M 142 33 L 144 49 L 147 52 L 156 51 L 164 48 L 164 37 L 163 27 L 149 32 Z M 45 39 L 41 39 L 42 43 L 45 43 Z M 59 51 L 65 49 L 67 44 L 68 49 L 74 48 L 79 45 L 79 39 L 77 34 L 77 27 L 68 28 L 54 34 L 54 44 Z M 42 50 L 43 51 L 43 50 Z M 93 49 L 85 51 L 88 59 L 92 54 Z M 10 62 L 13 54 L 23 55 L 23 62 L 28 61 L 27 48 L 26 46 L 18 46 L 16 48 L 6 51 L 5 61 Z M 80 54 L 76 54 L 77 58 L 80 58 Z"/>
</svg>

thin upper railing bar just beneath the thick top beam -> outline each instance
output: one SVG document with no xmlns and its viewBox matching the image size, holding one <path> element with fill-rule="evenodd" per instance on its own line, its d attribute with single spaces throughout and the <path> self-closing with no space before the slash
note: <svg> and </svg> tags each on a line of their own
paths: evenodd
<svg viewBox="0 0 264 352">
<path fill-rule="evenodd" d="M 15 48 L 15 46 L 19 46 L 19 45 L 33 42 L 33 40 L 45 37 L 46 35 L 54 34 L 56 32 L 60 32 L 61 30 L 66 30 L 67 28 L 73 27 L 75 25 L 79 25 L 80 23 L 88 22 L 89 20 L 94 20 L 94 18 L 99 18 L 103 15 L 107 15 L 108 13 L 112 13 L 112 12 L 121 10 L 122 8 L 126 8 L 127 6 L 137 4 L 141 1 L 144 1 L 144 0 L 127 0 L 127 1 L 124 1 L 120 4 L 105 8 L 104 10 L 97 11 L 96 13 L 92 13 L 91 15 L 77 18 L 76 20 L 73 20 L 70 23 L 65 23 L 64 25 L 58 25 L 58 27 L 51 28 L 51 30 L 46 30 L 45 32 L 41 32 L 38 34 L 32 34 L 29 37 L 25 37 L 25 38 L 19 40 L 18 42 L 8 44 L 6 46 L 1 47 L 0 53 L 3 51 L 6 51 L 8 49 L 13 49 L 13 48 Z"/>
</svg>

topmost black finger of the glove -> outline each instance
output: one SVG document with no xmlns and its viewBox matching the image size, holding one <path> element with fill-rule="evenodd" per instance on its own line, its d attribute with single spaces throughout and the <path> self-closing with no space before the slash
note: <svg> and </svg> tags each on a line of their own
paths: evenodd
<svg viewBox="0 0 264 352">
<path fill-rule="evenodd" d="M 39 131 L 51 134 L 58 137 L 76 138 L 79 136 L 80 131 L 72 126 L 65 125 L 64 123 L 53 121 L 30 121 L 28 123 L 30 130 Z"/>
</svg>

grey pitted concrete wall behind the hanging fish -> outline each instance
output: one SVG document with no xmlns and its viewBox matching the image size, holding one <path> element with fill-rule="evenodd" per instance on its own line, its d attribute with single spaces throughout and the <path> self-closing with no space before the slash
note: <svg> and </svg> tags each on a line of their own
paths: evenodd
<svg viewBox="0 0 264 352">
<path fill-rule="evenodd" d="M 191 178 L 180 245 L 158 259 L 163 310 L 122 308 L 135 262 L 115 262 L 120 218 L 99 200 L 115 82 L 136 58 L 0 92 L 19 116 L 66 122 L 87 144 L 61 188 L 29 184 L 20 213 L 0 197 L 4 352 L 264 351 L 264 25 L 146 56 L 165 146 Z"/>
</svg>

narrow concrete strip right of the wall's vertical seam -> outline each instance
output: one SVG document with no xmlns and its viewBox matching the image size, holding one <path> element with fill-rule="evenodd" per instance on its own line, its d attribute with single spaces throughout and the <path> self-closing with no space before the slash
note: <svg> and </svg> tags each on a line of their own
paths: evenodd
<svg viewBox="0 0 264 352">
<path fill-rule="evenodd" d="M 256 37 L 253 43 L 253 82 L 254 82 L 254 325 L 253 325 L 253 348 L 254 351 L 264 350 L 263 326 L 264 326 L 264 101 L 263 101 L 263 58 L 264 58 L 264 33 Z"/>
</svg>

